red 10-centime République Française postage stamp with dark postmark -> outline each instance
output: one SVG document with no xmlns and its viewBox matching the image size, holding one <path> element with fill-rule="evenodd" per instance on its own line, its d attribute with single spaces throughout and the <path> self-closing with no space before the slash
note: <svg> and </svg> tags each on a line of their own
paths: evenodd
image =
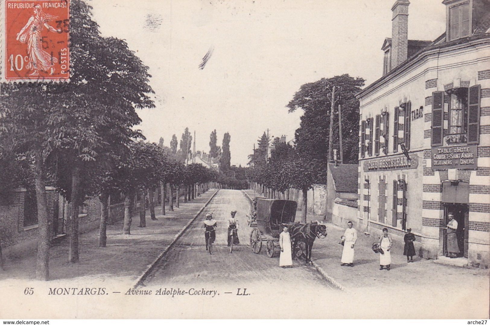
<svg viewBox="0 0 490 325">
<path fill-rule="evenodd" d="M 70 78 L 69 0 L 5 0 L 5 81 Z"/>
</svg>

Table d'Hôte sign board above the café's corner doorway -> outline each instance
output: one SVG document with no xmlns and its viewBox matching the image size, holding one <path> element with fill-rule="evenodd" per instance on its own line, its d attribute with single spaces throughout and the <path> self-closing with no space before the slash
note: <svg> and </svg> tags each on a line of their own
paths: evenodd
<svg viewBox="0 0 490 325">
<path fill-rule="evenodd" d="M 476 145 L 432 148 L 432 169 L 476 169 L 477 157 Z"/>
</svg>

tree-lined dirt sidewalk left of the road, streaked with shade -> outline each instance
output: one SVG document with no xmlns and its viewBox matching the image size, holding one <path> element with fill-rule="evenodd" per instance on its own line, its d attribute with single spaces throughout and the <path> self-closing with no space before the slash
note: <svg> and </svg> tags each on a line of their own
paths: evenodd
<svg viewBox="0 0 490 325">
<path fill-rule="evenodd" d="M 80 260 L 68 261 L 68 240 L 51 246 L 49 259 L 49 283 L 98 283 L 116 282 L 134 285 L 153 262 L 173 243 L 180 232 L 194 219 L 216 193 L 210 189 L 190 202 L 181 202 L 180 208 L 161 214 L 155 208 L 157 220 L 150 219 L 147 210 L 147 226 L 138 227 L 139 216 L 132 220 L 131 235 L 123 235 L 123 220 L 107 225 L 107 247 L 98 247 L 98 229 L 80 235 Z M 36 251 L 10 256 L 0 272 L 0 281 L 29 280 L 35 277 Z"/>
</svg>

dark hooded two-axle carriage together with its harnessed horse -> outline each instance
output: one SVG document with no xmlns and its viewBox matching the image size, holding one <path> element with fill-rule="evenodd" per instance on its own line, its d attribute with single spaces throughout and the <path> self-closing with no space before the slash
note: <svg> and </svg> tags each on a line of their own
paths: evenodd
<svg viewBox="0 0 490 325">
<path fill-rule="evenodd" d="M 262 250 L 262 242 L 266 242 L 267 256 L 274 257 L 280 251 L 279 234 L 282 226 L 287 225 L 293 244 L 293 254 L 297 258 L 305 256 L 310 262 L 311 248 L 315 238 L 324 238 L 327 235 L 326 226 L 314 222 L 300 224 L 294 222 L 297 203 L 291 200 L 255 199 L 256 207 L 254 223 L 250 233 L 250 247 L 256 254 Z M 254 202 L 254 205 L 255 205 Z M 253 226 L 250 223 L 250 226 Z"/>
</svg>

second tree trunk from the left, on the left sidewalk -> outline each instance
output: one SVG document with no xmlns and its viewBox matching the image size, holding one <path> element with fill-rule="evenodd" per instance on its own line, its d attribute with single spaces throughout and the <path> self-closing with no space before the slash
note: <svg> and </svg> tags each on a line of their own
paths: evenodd
<svg viewBox="0 0 490 325">
<path fill-rule="evenodd" d="M 78 207 L 80 205 L 80 171 L 81 162 L 75 159 L 72 171 L 72 211 L 70 213 L 70 249 L 68 251 L 68 261 L 78 262 L 79 255 L 79 233 L 78 233 Z"/>
</svg>

